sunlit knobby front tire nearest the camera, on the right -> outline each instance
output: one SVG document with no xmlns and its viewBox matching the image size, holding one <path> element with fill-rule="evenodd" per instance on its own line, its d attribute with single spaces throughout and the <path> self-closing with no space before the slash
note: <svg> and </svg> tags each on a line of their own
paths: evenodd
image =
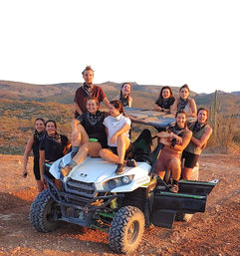
<svg viewBox="0 0 240 256">
<path fill-rule="evenodd" d="M 136 207 L 124 206 L 115 215 L 110 228 L 110 247 L 118 253 L 131 253 L 144 231 L 144 215 Z"/>
</svg>

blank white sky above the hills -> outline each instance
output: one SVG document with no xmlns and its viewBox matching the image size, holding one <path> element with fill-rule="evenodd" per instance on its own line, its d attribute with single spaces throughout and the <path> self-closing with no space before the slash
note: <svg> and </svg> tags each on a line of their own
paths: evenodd
<svg viewBox="0 0 240 256">
<path fill-rule="evenodd" d="M 0 80 L 240 91 L 239 0 L 1 0 Z"/>
</svg>

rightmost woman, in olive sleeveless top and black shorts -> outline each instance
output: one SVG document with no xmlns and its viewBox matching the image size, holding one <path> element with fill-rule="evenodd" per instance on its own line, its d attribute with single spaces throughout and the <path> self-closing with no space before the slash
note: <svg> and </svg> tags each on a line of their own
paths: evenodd
<svg viewBox="0 0 240 256">
<path fill-rule="evenodd" d="M 190 179 L 192 169 L 212 134 L 212 128 L 207 124 L 207 120 L 208 111 L 200 108 L 197 112 L 197 121 L 190 127 L 190 130 L 192 130 L 191 140 L 182 153 L 182 158 L 185 159 L 182 172 L 183 179 Z"/>
</svg>

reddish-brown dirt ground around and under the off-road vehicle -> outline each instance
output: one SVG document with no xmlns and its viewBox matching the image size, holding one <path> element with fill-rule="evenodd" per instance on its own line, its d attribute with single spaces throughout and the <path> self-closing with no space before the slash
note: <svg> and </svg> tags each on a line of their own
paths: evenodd
<svg viewBox="0 0 240 256">
<path fill-rule="evenodd" d="M 31 175 L 21 177 L 22 156 L 0 154 L 0 255 L 116 255 L 108 234 L 64 223 L 52 233 L 28 221 L 37 191 Z M 29 170 L 32 169 L 30 159 Z M 200 180 L 219 179 L 205 213 L 172 229 L 145 229 L 134 255 L 240 255 L 240 159 L 208 154 L 200 158 Z"/>
</svg>

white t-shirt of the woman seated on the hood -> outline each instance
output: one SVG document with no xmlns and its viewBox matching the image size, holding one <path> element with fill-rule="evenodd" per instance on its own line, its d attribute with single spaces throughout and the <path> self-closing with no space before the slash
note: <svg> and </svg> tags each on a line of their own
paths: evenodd
<svg viewBox="0 0 240 256">
<path fill-rule="evenodd" d="M 122 114 L 120 116 L 114 118 L 112 116 L 109 116 L 105 119 L 104 125 L 106 128 L 108 128 L 109 134 L 108 134 L 108 145 L 110 146 L 118 146 L 118 142 L 111 144 L 110 138 L 118 131 L 120 128 L 123 127 L 123 125 L 127 124 L 130 127 L 130 119 L 124 117 Z M 129 137 L 129 130 L 123 133 L 127 137 Z"/>
</svg>

